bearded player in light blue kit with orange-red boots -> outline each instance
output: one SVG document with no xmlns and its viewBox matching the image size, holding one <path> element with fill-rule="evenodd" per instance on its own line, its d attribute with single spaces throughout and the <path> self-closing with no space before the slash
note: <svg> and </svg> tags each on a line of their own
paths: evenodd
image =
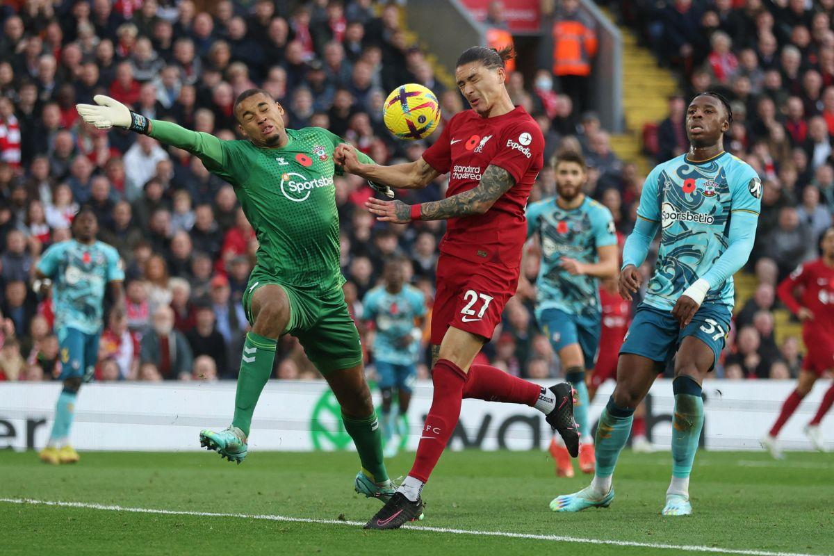
<svg viewBox="0 0 834 556">
<path fill-rule="evenodd" d="M 610 211 L 582 193 L 585 158 L 562 153 L 555 160 L 556 196 L 527 207 L 527 235 L 538 235 L 541 263 L 536 280 L 535 318 L 559 354 L 567 380 L 578 394 L 574 417 L 580 427 L 580 468 L 594 471 L 594 439 L 588 423 L 585 369 L 594 368 L 600 344 L 602 307 L 598 278 L 617 274 L 617 238 Z M 550 444 L 560 477 L 573 476 L 573 460 L 555 435 Z"/>
</svg>

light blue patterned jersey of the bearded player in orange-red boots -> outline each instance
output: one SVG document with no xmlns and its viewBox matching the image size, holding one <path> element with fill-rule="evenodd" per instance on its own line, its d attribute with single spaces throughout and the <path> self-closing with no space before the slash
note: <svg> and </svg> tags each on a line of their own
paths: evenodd
<svg viewBox="0 0 834 556">
<path fill-rule="evenodd" d="M 573 276 L 561 267 L 562 257 L 596 263 L 597 248 L 616 245 L 614 219 L 608 208 L 591 198 L 572 210 L 560 208 L 555 198 L 527 207 L 527 236 L 541 239 L 541 265 L 536 281 L 536 314 L 549 308 L 568 314 L 600 313 L 597 278 Z"/>
</svg>

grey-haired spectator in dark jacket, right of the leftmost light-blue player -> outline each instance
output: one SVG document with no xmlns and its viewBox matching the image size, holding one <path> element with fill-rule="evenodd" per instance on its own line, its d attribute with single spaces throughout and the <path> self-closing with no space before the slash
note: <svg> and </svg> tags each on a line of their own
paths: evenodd
<svg viewBox="0 0 834 556">
<path fill-rule="evenodd" d="M 191 374 L 193 353 L 183 333 L 173 328 L 173 310 L 162 305 L 153 312 L 152 325 L 140 342 L 139 363 L 152 363 L 166 380 Z"/>
</svg>

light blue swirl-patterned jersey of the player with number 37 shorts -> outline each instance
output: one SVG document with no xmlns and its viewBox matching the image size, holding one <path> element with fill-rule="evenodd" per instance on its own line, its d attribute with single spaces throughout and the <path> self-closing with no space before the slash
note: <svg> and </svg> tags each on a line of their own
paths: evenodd
<svg viewBox="0 0 834 556">
<path fill-rule="evenodd" d="M 661 227 L 661 246 L 644 303 L 664 310 L 675 307 L 681 293 L 726 251 L 732 215 L 758 215 L 760 210 L 761 180 L 749 164 L 730 153 L 701 163 L 681 155 L 658 164 L 646 178 L 637 208 L 638 218 Z M 704 305 L 729 310 L 733 303 L 732 274 L 704 298 Z"/>
</svg>

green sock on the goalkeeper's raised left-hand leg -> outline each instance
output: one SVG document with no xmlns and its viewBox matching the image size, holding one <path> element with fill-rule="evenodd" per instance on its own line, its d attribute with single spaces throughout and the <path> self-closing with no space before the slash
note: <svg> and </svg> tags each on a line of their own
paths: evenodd
<svg viewBox="0 0 834 556">
<path fill-rule="evenodd" d="M 252 413 L 255 411 L 255 405 L 272 374 L 276 344 L 274 339 L 254 332 L 246 334 L 238 375 L 238 391 L 234 396 L 232 426 L 244 431 L 247 438 L 249 428 L 252 426 Z"/>
</svg>

